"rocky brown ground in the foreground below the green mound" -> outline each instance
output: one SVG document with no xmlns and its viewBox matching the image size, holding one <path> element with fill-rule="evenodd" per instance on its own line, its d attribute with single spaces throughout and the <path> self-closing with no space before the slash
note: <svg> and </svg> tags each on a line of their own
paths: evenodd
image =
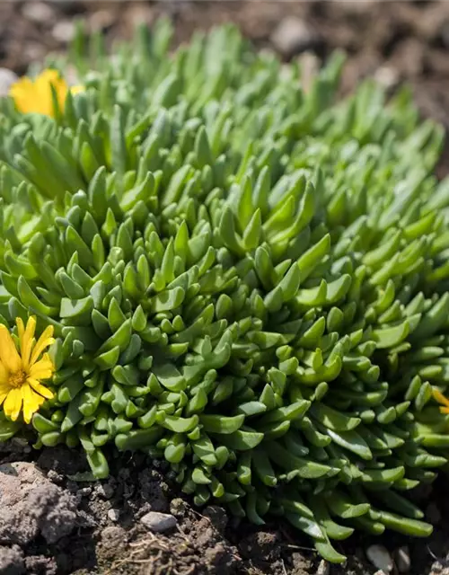
<svg viewBox="0 0 449 575">
<path fill-rule="evenodd" d="M 358 537 L 340 547 L 347 564 L 330 566 L 286 524 L 239 524 L 216 506 L 199 513 L 145 456 L 113 461 L 106 482 L 75 481 L 85 470 L 65 447 L 0 447 L 2 575 L 449 575 L 443 485 L 415 494 L 436 526 L 428 541 Z"/>
</svg>

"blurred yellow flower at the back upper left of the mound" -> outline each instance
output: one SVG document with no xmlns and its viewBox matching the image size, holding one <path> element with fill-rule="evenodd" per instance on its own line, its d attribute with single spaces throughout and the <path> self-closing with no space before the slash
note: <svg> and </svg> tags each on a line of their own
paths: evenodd
<svg viewBox="0 0 449 575">
<path fill-rule="evenodd" d="M 9 93 L 18 111 L 22 111 L 24 114 L 35 112 L 54 117 L 51 86 L 54 87 L 57 94 L 60 111 L 64 111 L 69 89 L 74 95 L 84 90 L 83 86 L 68 88 L 66 80 L 61 78 L 57 70 L 48 69 L 41 72 L 35 80 L 31 80 L 27 76 L 22 77 L 11 86 Z"/>
</svg>

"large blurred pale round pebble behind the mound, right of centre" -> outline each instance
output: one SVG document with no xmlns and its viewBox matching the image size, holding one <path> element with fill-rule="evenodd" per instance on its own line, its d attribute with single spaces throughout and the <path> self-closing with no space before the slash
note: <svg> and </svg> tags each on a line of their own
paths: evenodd
<svg viewBox="0 0 449 575">
<path fill-rule="evenodd" d="M 320 43 L 320 37 L 312 24 L 293 16 L 279 22 L 270 40 L 284 57 L 293 57 L 306 50 L 316 49 Z"/>
</svg>

